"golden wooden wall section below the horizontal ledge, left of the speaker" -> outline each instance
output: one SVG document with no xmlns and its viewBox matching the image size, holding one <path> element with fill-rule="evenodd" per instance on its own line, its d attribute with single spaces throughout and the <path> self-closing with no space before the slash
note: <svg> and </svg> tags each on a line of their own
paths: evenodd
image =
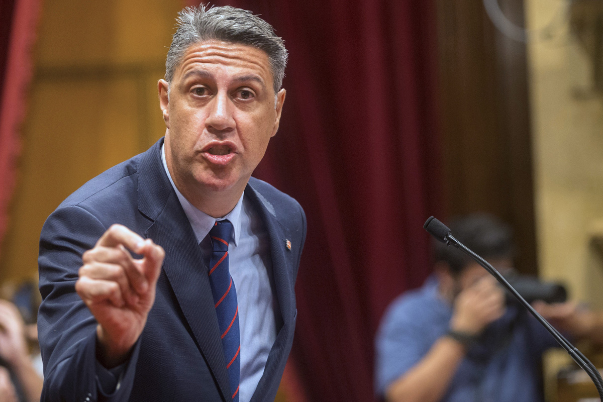
<svg viewBox="0 0 603 402">
<path fill-rule="evenodd" d="M 52 98 L 60 101 L 49 102 Z M 38 238 L 46 217 L 66 195 L 106 166 L 136 154 L 133 99 L 136 86 L 127 80 L 37 85 L 3 247 L 3 275 L 18 280 L 35 273 Z"/>
</svg>

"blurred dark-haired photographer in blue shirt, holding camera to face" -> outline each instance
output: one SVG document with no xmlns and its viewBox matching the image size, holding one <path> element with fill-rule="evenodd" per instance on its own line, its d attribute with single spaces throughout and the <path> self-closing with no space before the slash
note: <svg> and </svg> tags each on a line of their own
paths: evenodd
<svg viewBox="0 0 603 402">
<path fill-rule="evenodd" d="M 455 238 L 501 274 L 513 267 L 511 228 L 475 214 Z M 388 402 L 537 402 L 541 357 L 557 342 L 497 281 L 455 247 L 434 242 L 434 275 L 388 307 L 376 336 L 376 391 Z M 573 338 L 596 339 L 598 318 L 576 303 L 538 310 Z M 599 338 L 603 338 L 603 331 Z"/>
</svg>

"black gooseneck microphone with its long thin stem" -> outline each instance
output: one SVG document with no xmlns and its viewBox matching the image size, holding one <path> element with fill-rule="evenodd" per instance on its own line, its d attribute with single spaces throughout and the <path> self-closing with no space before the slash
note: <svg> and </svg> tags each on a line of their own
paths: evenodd
<svg viewBox="0 0 603 402">
<path fill-rule="evenodd" d="M 504 286 L 507 291 L 509 291 L 515 298 L 517 298 L 519 303 L 522 304 L 522 306 L 525 307 L 525 309 L 528 310 L 531 315 L 533 315 L 538 320 L 538 322 L 540 322 L 540 324 L 542 324 L 543 327 L 545 327 L 546 330 L 549 331 L 549 333 L 551 333 L 553 338 L 555 338 L 555 341 L 557 341 L 558 344 L 560 344 L 561 347 L 567 351 L 567 353 L 572 357 L 573 361 L 575 361 L 578 366 L 580 366 L 584 371 L 586 371 L 586 374 L 588 374 L 592 382 L 595 383 L 597 392 L 599 392 L 599 398 L 601 399 L 601 402 L 603 402 L 603 379 L 601 378 L 601 374 L 599 374 L 599 370 L 596 369 L 595 365 L 593 365 L 593 363 L 591 363 L 590 360 L 587 359 L 586 356 L 581 353 L 581 351 L 579 351 L 576 347 L 570 344 L 570 342 L 567 341 L 567 339 L 565 339 L 564 336 L 561 335 L 561 333 L 557 331 L 557 329 L 555 329 L 555 327 L 553 327 L 548 321 L 546 321 L 543 316 L 538 314 L 538 312 L 534 310 L 534 308 L 530 306 L 527 301 L 525 301 L 525 299 L 519 294 L 519 292 L 517 292 L 513 288 L 513 286 L 508 283 L 508 281 L 500 274 L 500 272 L 496 271 L 496 269 L 494 269 L 494 267 L 491 266 L 490 263 L 488 263 L 482 257 L 478 256 L 478 254 L 473 253 L 473 251 L 467 248 L 463 243 L 456 240 L 455 237 L 452 236 L 450 228 L 444 225 L 442 222 L 438 221 L 438 219 L 434 218 L 433 216 L 430 216 L 429 219 L 427 219 L 427 221 L 423 225 L 423 228 L 440 242 L 446 243 L 447 246 L 453 245 L 454 247 L 463 251 L 463 253 L 468 254 L 479 265 L 483 266 L 486 271 L 490 272 L 490 274 L 494 278 L 496 278 L 496 280 L 499 281 L 499 283 L 502 284 L 502 286 Z"/>
</svg>

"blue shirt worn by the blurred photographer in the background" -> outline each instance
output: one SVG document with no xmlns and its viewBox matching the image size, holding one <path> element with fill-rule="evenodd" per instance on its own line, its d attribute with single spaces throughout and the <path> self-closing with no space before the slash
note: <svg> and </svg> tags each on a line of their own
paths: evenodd
<svg viewBox="0 0 603 402">
<path fill-rule="evenodd" d="M 390 304 L 375 341 L 377 395 L 425 357 L 449 329 L 450 318 L 452 306 L 438 294 L 435 277 Z M 556 345 L 523 307 L 508 306 L 467 350 L 441 402 L 542 401 L 541 356 Z"/>
</svg>

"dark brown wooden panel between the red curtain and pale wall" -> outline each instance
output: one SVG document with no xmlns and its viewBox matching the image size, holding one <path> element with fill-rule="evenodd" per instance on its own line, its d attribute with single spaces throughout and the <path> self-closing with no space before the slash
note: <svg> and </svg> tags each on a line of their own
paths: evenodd
<svg viewBox="0 0 603 402">
<path fill-rule="evenodd" d="M 523 25 L 523 0 L 498 0 Z M 438 1 L 441 131 L 448 215 L 488 212 L 513 225 L 517 268 L 537 253 L 525 43 L 494 28 L 481 1 Z"/>
</svg>

